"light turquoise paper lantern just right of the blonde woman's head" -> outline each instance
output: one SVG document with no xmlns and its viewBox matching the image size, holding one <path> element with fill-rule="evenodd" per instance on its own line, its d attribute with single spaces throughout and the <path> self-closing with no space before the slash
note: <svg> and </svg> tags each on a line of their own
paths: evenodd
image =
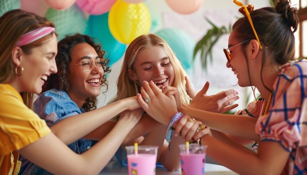
<svg viewBox="0 0 307 175">
<path fill-rule="evenodd" d="M 184 69 L 192 63 L 195 42 L 185 31 L 177 28 L 164 28 L 156 32 L 174 51 Z"/>
</svg>

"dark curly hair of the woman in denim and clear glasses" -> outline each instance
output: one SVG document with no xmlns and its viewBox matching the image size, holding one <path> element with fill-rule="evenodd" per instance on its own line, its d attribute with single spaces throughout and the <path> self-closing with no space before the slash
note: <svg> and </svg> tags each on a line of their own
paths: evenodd
<svg viewBox="0 0 307 175">
<path fill-rule="evenodd" d="M 88 35 L 83 34 L 75 34 L 72 36 L 66 36 L 58 43 L 58 53 L 55 57 L 55 62 L 57 66 L 57 73 L 52 74 L 48 80 L 46 81 L 45 85 L 43 86 L 43 92 L 50 90 L 52 88 L 56 88 L 58 90 L 64 90 L 68 92 L 70 90 L 70 83 L 68 81 L 67 75 L 69 71 L 69 66 L 72 62 L 71 58 L 71 51 L 72 49 L 80 43 L 87 43 L 95 48 L 97 54 L 100 58 L 104 58 L 105 51 L 102 50 L 101 44 L 96 44 L 94 39 Z M 107 63 L 109 62 L 108 59 Z M 106 81 L 107 73 L 110 73 L 111 69 L 107 66 L 106 70 L 104 71 L 104 75 L 101 81 L 101 87 L 106 87 L 105 91 L 108 89 L 108 84 Z M 104 92 L 105 92 L 104 91 Z M 103 93 L 103 92 L 102 92 Z M 85 111 L 93 110 L 97 108 L 97 97 L 90 97 L 87 98 L 82 106 Z"/>
</svg>

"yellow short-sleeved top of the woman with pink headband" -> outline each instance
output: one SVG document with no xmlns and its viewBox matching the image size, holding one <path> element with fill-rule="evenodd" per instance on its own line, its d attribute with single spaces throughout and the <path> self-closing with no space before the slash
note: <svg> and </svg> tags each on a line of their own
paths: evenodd
<svg viewBox="0 0 307 175">
<path fill-rule="evenodd" d="M 20 170 L 17 150 L 51 132 L 45 120 L 27 108 L 18 91 L 0 84 L 0 175 L 15 175 Z"/>
</svg>

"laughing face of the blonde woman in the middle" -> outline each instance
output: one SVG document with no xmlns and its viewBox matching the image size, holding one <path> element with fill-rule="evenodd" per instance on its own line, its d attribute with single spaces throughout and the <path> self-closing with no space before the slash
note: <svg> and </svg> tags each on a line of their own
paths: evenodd
<svg viewBox="0 0 307 175">
<path fill-rule="evenodd" d="M 151 46 L 142 50 L 133 64 L 134 71 L 128 70 L 129 77 L 143 86 L 143 81 L 151 80 L 162 88 L 172 86 L 174 82 L 174 68 L 170 58 L 162 47 Z"/>
</svg>

